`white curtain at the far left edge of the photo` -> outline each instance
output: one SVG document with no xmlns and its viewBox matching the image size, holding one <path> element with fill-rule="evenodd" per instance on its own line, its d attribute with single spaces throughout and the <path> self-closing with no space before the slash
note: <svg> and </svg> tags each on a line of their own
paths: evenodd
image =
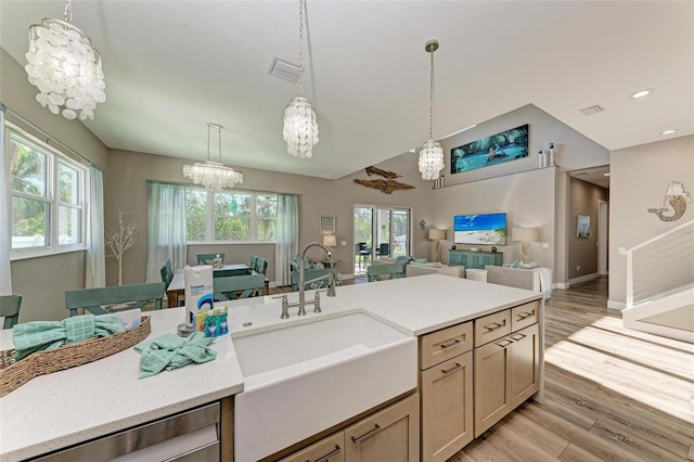
<svg viewBox="0 0 694 462">
<path fill-rule="evenodd" d="M 0 105 L 0 295 L 12 294 L 10 273 L 10 248 L 12 224 L 10 223 L 10 154 L 4 150 L 4 106 Z"/>
</svg>

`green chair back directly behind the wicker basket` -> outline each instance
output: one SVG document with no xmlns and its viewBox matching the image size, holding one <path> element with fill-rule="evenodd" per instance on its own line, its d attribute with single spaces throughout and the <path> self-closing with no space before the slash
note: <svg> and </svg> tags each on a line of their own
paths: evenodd
<svg viewBox="0 0 694 462">
<path fill-rule="evenodd" d="M 130 309 L 142 309 L 147 303 L 154 300 L 154 309 L 162 309 L 164 294 L 164 282 L 76 288 L 65 291 L 65 308 L 69 310 L 69 316 L 77 316 L 79 308 L 93 315 L 106 315 L 110 312 L 104 308 L 106 305 L 128 304 Z"/>
</svg>

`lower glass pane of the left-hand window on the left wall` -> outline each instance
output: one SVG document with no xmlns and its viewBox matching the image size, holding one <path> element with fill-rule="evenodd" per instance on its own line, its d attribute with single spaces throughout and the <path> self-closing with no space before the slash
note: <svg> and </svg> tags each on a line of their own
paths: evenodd
<svg viewBox="0 0 694 462">
<path fill-rule="evenodd" d="M 12 248 L 50 245 L 48 229 L 48 203 L 12 197 Z"/>
</svg>

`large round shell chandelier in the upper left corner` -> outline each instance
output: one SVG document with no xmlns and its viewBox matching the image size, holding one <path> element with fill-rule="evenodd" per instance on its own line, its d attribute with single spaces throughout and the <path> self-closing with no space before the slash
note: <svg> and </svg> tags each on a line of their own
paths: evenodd
<svg viewBox="0 0 694 462">
<path fill-rule="evenodd" d="M 67 119 L 94 118 L 97 103 L 106 101 L 101 56 L 91 40 L 73 18 L 72 0 L 65 1 L 65 21 L 44 17 L 29 27 L 28 64 L 24 67 L 29 82 L 40 92 L 36 101 L 53 114 Z"/>
</svg>

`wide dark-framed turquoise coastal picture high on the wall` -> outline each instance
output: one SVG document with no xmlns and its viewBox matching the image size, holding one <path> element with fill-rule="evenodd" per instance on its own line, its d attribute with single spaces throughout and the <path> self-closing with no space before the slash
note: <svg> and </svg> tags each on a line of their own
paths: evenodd
<svg viewBox="0 0 694 462">
<path fill-rule="evenodd" d="M 451 150 L 451 174 L 528 156 L 528 125 L 512 128 Z"/>
</svg>

